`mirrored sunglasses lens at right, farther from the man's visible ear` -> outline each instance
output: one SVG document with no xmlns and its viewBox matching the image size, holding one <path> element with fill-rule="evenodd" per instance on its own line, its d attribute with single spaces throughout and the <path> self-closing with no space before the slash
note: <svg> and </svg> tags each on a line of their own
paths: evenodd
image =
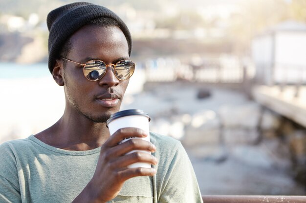
<svg viewBox="0 0 306 203">
<path fill-rule="evenodd" d="M 135 64 L 130 60 L 122 60 L 116 64 L 115 74 L 119 80 L 129 79 L 135 70 Z"/>
</svg>

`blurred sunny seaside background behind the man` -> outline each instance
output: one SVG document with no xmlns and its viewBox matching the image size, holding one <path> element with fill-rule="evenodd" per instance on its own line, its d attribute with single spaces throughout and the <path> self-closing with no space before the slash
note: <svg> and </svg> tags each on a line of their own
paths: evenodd
<svg viewBox="0 0 306 203">
<path fill-rule="evenodd" d="M 182 142 L 202 195 L 306 195 L 306 0 L 87 0 L 133 37 L 122 110 Z M 0 143 L 55 123 L 46 16 L 71 0 L 0 0 Z"/>
</svg>

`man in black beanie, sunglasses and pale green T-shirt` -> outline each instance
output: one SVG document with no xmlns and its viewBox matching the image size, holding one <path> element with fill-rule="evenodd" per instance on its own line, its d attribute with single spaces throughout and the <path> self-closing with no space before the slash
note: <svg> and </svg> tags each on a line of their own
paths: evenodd
<svg viewBox="0 0 306 203">
<path fill-rule="evenodd" d="M 135 128 L 109 135 L 106 121 L 135 67 L 125 23 L 105 7 L 76 2 L 51 11 L 47 25 L 48 67 L 66 108 L 50 128 L 0 146 L 0 203 L 201 203 L 178 141 L 150 133 L 151 142 L 118 145 L 148 136 Z M 127 154 L 135 149 L 152 154 Z M 127 167 L 136 162 L 153 167 Z"/>
</svg>

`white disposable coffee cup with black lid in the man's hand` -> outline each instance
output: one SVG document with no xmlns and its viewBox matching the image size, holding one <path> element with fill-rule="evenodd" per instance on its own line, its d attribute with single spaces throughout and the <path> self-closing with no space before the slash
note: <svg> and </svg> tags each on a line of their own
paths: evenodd
<svg viewBox="0 0 306 203">
<path fill-rule="evenodd" d="M 138 137 L 126 138 L 122 140 L 119 144 L 124 143 L 130 139 L 143 139 L 143 140 L 150 142 L 149 121 L 150 121 L 150 116 L 147 113 L 143 112 L 142 110 L 131 109 L 131 110 L 119 111 L 119 112 L 112 114 L 107 121 L 107 126 L 109 128 L 110 135 L 112 135 L 118 129 L 130 128 L 130 127 L 142 129 L 146 131 L 148 134 L 148 136 L 144 138 L 138 138 Z M 135 151 L 141 151 L 141 152 L 151 154 L 150 151 L 144 151 L 144 150 L 132 150 L 128 154 L 133 153 Z M 135 168 L 135 167 L 151 168 L 151 165 L 147 163 L 137 162 L 137 163 L 129 165 L 128 167 L 129 168 Z"/>
</svg>

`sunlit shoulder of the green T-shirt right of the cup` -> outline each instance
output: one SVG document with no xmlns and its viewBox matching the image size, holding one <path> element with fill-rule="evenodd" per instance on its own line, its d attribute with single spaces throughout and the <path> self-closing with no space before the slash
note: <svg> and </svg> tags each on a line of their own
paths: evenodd
<svg viewBox="0 0 306 203">
<path fill-rule="evenodd" d="M 156 133 L 150 133 L 150 138 L 158 161 L 153 166 L 158 202 L 202 203 L 193 166 L 180 141 Z"/>
</svg>

